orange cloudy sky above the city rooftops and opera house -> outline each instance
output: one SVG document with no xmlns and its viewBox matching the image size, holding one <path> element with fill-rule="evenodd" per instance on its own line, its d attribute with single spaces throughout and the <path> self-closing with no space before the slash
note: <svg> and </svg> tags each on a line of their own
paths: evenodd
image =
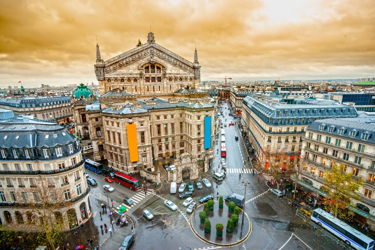
<svg viewBox="0 0 375 250">
<path fill-rule="evenodd" d="M 107 60 L 156 43 L 202 80 L 375 77 L 374 0 L 0 1 L 0 87 L 97 82 Z"/>
</svg>

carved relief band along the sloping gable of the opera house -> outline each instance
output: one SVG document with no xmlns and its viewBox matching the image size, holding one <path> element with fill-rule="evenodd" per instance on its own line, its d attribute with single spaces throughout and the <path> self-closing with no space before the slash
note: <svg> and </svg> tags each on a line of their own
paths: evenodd
<svg viewBox="0 0 375 250">
<path fill-rule="evenodd" d="M 151 57 L 148 57 L 150 56 Z M 121 58 L 120 60 L 116 61 L 115 63 L 111 63 L 110 65 L 106 66 L 105 67 L 105 73 L 112 73 L 114 72 L 115 70 L 118 70 L 126 65 L 129 65 L 135 61 L 138 61 L 144 57 L 148 57 L 147 60 L 149 63 L 151 64 L 154 64 L 156 63 L 157 61 L 157 58 L 160 58 L 160 59 L 163 59 L 165 61 L 168 61 L 169 63 L 171 64 L 174 64 L 175 66 L 189 72 L 189 73 L 193 73 L 194 72 L 194 69 L 193 67 L 191 67 L 190 65 L 187 65 L 186 63 L 184 63 L 183 61 L 180 61 L 178 60 L 177 58 L 174 58 L 174 57 L 171 57 L 170 55 L 166 54 L 165 52 L 159 50 L 159 49 L 155 49 L 153 46 L 149 47 L 148 49 L 146 50 L 142 50 L 142 51 L 138 51 L 138 52 L 134 52 L 133 54 L 131 55 L 128 55 L 124 58 Z"/>
</svg>

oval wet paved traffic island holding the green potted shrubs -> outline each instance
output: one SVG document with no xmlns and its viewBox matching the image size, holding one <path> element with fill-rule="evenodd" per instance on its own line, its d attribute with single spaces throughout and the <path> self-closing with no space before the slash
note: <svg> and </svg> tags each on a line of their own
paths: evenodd
<svg viewBox="0 0 375 250">
<path fill-rule="evenodd" d="M 205 219 L 209 219 L 211 230 L 205 228 L 207 223 L 205 220 L 201 220 L 199 217 L 199 212 L 203 211 L 204 204 L 199 205 L 194 213 L 190 215 L 190 228 L 196 237 L 200 238 L 205 243 L 213 244 L 215 246 L 237 246 L 244 242 L 251 234 L 251 222 L 248 215 L 245 213 L 242 228 L 242 238 L 241 235 L 241 224 L 242 224 L 242 213 L 244 211 L 240 209 L 239 220 L 237 226 L 233 227 L 233 231 L 226 230 L 226 225 L 228 219 L 231 219 L 233 212 L 229 211 L 228 203 L 224 202 L 223 208 L 219 208 L 219 202 L 214 202 L 213 210 L 208 211 L 208 216 Z M 203 223 L 201 222 L 203 221 Z M 207 221 L 206 221 L 207 222 Z M 223 225 L 223 230 L 217 233 L 215 226 L 221 223 Z"/>
</svg>

